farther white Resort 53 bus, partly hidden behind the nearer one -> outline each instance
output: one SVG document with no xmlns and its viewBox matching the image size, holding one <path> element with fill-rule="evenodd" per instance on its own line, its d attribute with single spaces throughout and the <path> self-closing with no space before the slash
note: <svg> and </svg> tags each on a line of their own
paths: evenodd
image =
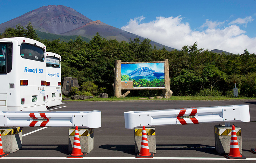
<svg viewBox="0 0 256 163">
<path fill-rule="evenodd" d="M 47 107 L 62 104 L 61 93 L 61 57 L 52 52 L 46 52 L 46 98 Z"/>
</svg>

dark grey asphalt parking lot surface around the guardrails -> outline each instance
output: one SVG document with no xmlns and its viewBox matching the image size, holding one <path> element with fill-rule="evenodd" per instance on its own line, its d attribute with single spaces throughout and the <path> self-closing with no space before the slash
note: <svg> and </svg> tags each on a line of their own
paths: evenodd
<svg viewBox="0 0 256 163">
<path fill-rule="evenodd" d="M 126 129 L 124 112 L 189 107 L 225 105 L 249 105 L 251 122 L 234 123 L 241 128 L 242 154 L 256 162 L 256 154 L 250 152 L 256 146 L 256 101 L 109 101 L 67 102 L 48 110 L 102 112 L 102 127 L 94 129 L 94 149 L 84 158 L 67 159 L 69 128 L 22 128 L 22 149 L 0 158 L 3 162 L 19 163 L 108 163 L 108 162 L 228 162 L 215 150 L 214 125 L 168 125 L 156 127 L 156 154 L 152 159 L 135 158 L 134 129 Z M 41 130 L 38 130 L 41 129 Z M 33 132 L 35 131 L 35 132 Z"/>
</svg>

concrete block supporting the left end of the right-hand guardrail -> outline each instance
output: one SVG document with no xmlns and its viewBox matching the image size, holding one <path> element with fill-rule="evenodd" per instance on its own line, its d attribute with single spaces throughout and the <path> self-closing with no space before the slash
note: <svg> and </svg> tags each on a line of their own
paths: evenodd
<svg viewBox="0 0 256 163">
<path fill-rule="evenodd" d="M 149 152 L 156 153 L 155 127 L 146 127 L 148 138 Z M 134 128 L 135 153 L 140 152 L 142 141 L 142 128 Z"/>
</svg>

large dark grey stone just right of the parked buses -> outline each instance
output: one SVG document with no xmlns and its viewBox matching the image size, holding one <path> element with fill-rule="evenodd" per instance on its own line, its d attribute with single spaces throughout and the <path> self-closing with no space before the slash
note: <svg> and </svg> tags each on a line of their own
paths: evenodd
<svg viewBox="0 0 256 163">
<path fill-rule="evenodd" d="M 62 86 L 63 94 L 68 96 L 72 87 L 80 88 L 78 85 L 78 80 L 76 78 L 65 77 Z"/>
</svg>

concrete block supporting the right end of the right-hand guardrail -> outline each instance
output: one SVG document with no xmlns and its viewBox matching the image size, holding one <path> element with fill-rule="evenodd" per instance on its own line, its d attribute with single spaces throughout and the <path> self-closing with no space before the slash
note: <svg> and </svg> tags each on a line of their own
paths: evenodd
<svg viewBox="0 0 256 163">
<path fill-rule="evenodd" d="M 231 126 L 230 127 L 226 127 L 223 125 L 214 126 L 215 149 L 219 154 L 229 153 L 231 130 L 232 130 Z M 240 153 L 242 153 L 241 128 L 235 126 L 235 130 L 236 130 L 236 137 L 238 139 L 239 151 Z"/>
</svg>

